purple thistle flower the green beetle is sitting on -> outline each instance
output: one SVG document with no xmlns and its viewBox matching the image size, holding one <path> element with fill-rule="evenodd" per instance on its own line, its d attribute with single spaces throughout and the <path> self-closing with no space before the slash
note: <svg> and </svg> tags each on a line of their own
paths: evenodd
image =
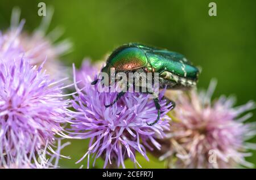
<svg viewBox="0 0 256 180">
<path fill-rule="evenodd" d="M 75 71 L 75 67 L 73 69 Z M 168 130 L 170 118 L 166 114 L 172 105 L 167 105 L 166 100 L 160 100 L 160 121 L 154 126 L 148 126 L 146 122 L 155 121 L 157 116 L 154 101 L 148 95 L 126 93 L 116 104 L 105 108 L 105 104 L 112 102 L 117 93 L 98 92 L 97 85 L 90 84 L 92 75 L 87 72 L 84 71 L 84 77 L 87 78 L 82 82 L 85 86 L 82 91 L 76 87 L 78 95 L 74 96 L 73 101 L 76 113 L 71 135 L 77 139 L 90 139 L 88 151 L 77 163 L 87 156 L 89 168 L 90 156 L 94 158 L 93 166 L 96 159 L 102 157 L 105 159 L 104 168 L 107 165 L 122 165 L 125 168 L 126 158 L 138 164 L 136 152 L 148 160 L 146 148 L 152 150 L 154 145 L 160 149 L 156 138 L 163 138 L 164 130 Z M 163 93 L 160 93 L 160 99 Z"/>
</svg>

